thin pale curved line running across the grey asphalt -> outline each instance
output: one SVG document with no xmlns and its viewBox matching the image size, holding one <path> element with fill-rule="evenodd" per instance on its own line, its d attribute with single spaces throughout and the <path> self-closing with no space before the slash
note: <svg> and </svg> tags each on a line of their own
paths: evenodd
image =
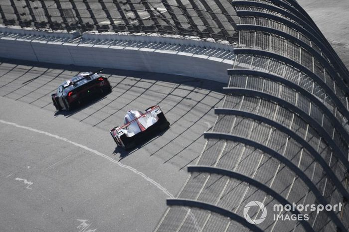
<svg viewBox="0 0 349 232">
<path fill-rule="evenodd" d="M 146 181 L 150 182 L 151 184 L 153 184 L 155 187 L 157 187 L 159 190 L 161 190 L 163 193 L 165 193 L 167 196 L 171 197 L 171 198 L 174 198 L 174 196 L 169 192 L 167 191 L 167 189 L 165 189 L 163 186 L 161 186 L 158 182 L 156 182 L 155 180 L 153 180 L 152 178 L 146 176 L 143 172 L 140 172 L 138 171 L 137 169 L 133 168 L 133 167 L 130 167 L 130 166 L 127 166 L 127 165 L 124 165 L 120 162 L 118 162 L 117 160 L 115 159 L 112 159 L 111 157 L 99 152 L 99 151 L 96 151 L 94 149 L 91 149 L 87 146 L 84 146 L 82 144 L 79 144 L 79 143 L 76 143 L 76 142 L 73 142 L 73 141 L 70 141 L 69 139 L 67 138 L 63 138 L 61 136 L 58 136 L 58 135 L 55 135 L 55 134 L 51 134 L 49 132 L 46 132 L 46 131 L 42 131 L 42 130 L 38 130 L 38 129 L 34 129 L 34 128 L 31 128 L 31 127 L 28 127 L 28 126 L 23 126 L 23 125 L 18 125 L 16 123 L 13 123 L 13 122 L 9 122 L 9 121 L 4 121 L 4 120 L 1 120 L 0 119 L 0 122 L 3 123 L 3 124 L 7 124 L 7 125 L 12 125 L 12 126 L 15 126 L 17 128 L 22 128 L 22 129 L 26 129 L 26 130 L 30 130 L 30 131 L 33 131 L 33 132 L 36 132 L 36 133 L 40 133 L 40 134 L 44 134 L 44 135 L 47 135 L 47 136 L 50 136 L 50 137 L 53 137 L 53 138 L 56 138 L 56 139 L 59 139 L 59 140 L 63 140 L 65 142 L 68 142 L 74 146 L 77 146 L 77 147 L 80 147 L 82 149 L 85 149 L 95 155 L 98 155 L 98 156 L 101 156 L 105 159 L 107 159 L 108 161 L 112 162 L 112 163 L 115 163 L 117 164 L 118 166 L 122 167 L 122 168 L 125 168 L 125 169 L 128 169 L 130 171 L 132 171 L 133 173 L 141 176 L 143 179 L 145 179 Z"/>
</svg>

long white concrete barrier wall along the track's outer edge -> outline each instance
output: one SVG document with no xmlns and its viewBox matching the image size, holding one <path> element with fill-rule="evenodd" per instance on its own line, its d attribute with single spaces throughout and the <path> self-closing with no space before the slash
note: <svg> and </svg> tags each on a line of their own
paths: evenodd
<svg viewBox="0 0 349 232">
<path fill-rule="evenodd" d="M 84 34 L 82 37 L 85 40 L 80 40 L 80 42 L 67 42 L 71 40 L 70 36 L 63 36 L 63 38 L 58 36 L 60 39 L 52 41 L 52 39 L 45 39 L 47 38 L 47 35 L 44 37 L 42 35 L 35 35 L 34 37 L 31 36 L 30 39 L 28 39 L 22 34 L 12 35 L 6 32 L 6 34 L 0 35 L 0 57 L 65 65 L 72 64 L 98 68 L 101 67 L 176 74 L 209 79 L 223 83 L 226 83 L 228 80 L 226 70 L 228 68 L 232 68 L 233 64 L 231 59 L 226 60 L 219 57 L 201 55 L 200 53 L 197 53 L 197 51 L 200 50 L 200 48 L 197 49 L 197 47 L 191 50 L 188 49 L 189 52 L 168 50 L 167 48 L 169 46 L 164 46 L 164 49 L 142 47 L 142 43 L 146 43 L 145 40 L 148 40 L 150 43 L 154 43 L 155 39 L 159 40 L 159 38 L 149 37 L 140 40 L 141 38 L 139 37 L 136 39 L 134 37 L 130 37 L 130 39 L 135 39 L 136 41 L 134 43 L 136 45 L 140 44 L 140 47 L 137 47 L 136 45 L 132 47 L 100 45 L 91 43 L 91 40 L 86 42 L 88 37 L 96 40 L 98 38 L 96 36 L 97 35 Z M 123 35 L 123 37 L 120 37 L 119 39 L 127 39 L 126 36 L 128 35 Z M 110 39 L 116 38 L 117 37 L 110 37 Z M 101 37 L 101 39 L 106 38 Z M 171 39 L 176 41 L 174 38 Z M 160 40 L 159 42 L 166 45 L 164 41 Z M 185 42 L 183 39 L 181 39 L 180 42 L 182 43 L 181 46 L 185 46 L 185 48 L 190 48 L 190 44 L 191 46 L 197 45 L 195 42 Z M 196 42 L 201 45 L 205 44 L 205 47 L 209 45 L 210 48 L 214 47 L 212 42 Z M 232 46 L 218 46 L 223 46 L 226 48 L 223 51 L 225 54 L 227 52 L 232 52 L 233 50 Z M 223 47 L 215 49 L 217 49 L 217 51 L 221 51 Z M 191 51 L 193 53 L 190 53 Z"/>
</svg>

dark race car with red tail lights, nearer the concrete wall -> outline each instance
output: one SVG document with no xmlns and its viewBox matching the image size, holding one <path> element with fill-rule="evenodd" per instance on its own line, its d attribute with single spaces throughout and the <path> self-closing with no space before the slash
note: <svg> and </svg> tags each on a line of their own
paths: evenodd
<svg viewBox="0 0 349 232">
<path fill-rule="evenodd" d="M 102 71 L 103 69 L 96 72 L 81 72 L 61 84 L 56 93 L 51 95 L 56 110 L 69 111 L 97 95 L 110 93 L 112 87 L 108 79 L 100 75 Z"/>
</svg>

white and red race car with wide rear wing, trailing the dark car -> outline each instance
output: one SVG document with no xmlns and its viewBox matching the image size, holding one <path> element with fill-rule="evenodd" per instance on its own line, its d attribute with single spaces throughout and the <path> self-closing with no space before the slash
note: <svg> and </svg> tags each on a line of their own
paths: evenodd
<svg viewBox="0 0 349 232">
<path fill-rule="evenodd" d="M 148 108 L 145 113 L 128 111 L 124 117 L 124 125 L 114 127 L 110 134 L 118 146 L 128 150 L 169 126 L 170 122 L 156 105 Z"/>
</svg>

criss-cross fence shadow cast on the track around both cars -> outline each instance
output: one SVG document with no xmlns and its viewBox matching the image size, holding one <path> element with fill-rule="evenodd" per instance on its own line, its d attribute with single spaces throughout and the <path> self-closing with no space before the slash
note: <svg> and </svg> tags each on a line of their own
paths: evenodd
<svg viewBox="0 0 349 232">
<path fill-rule="evenodd" d="M 196 147 L 202 142 L 202 133 L 209 129 L 209 126 L 204 126 L 204 122 L 209 120 L 213 123 L 212 117 L 215 116 L 212 106 L 221 102 L 223 94 L 220 93 L 225 86 L 224 83 L 184 76 L 105 69 L 103 74 L 110 77 L 112 93 L 86 102 L 72 111 L 55 112 L 51 93 L 58 85 L 78 72 L 94 71 L 95 68 L 9 59 L 0 59 L 0 62 L 3 62 L 0 65 L 1 73 L 6 75 L 5 79 L 0 79 L 3 85 L 0 88 L 0 92 L 3 92 L 1 96 L 6 95 L 6 98 L 52 111 L 54 116 L 72 117 L 103 130 L 112 128 L 115 122 L 122 122 L 122 113 L 126 113 L 127 107 L 143 110 L 148 107 L 147 104 L 159 103 L 164 107 L 171 126 L 175 126 L 170 128 L 171 133 L 164 138 L 162 135 L 165 131 L 160 132 L 133 150 L 125 151 L 116 147 L 113 154 L 122 160 L 133 153 L 138 154 L 142 147 L 149 146 L 147 149 L 152 150 L 150 156 L 157 155 L 164 163 L 176 163 L 180 169 L 197 159 L 198 153 L 190 147 Z M 161 141 L 157 141 L 162 137 Z M 189 142 L 187 138 L 190 138 Z M 182 145 L 177 150 L 172 149 L 172 141 Z"/>
</svg>

